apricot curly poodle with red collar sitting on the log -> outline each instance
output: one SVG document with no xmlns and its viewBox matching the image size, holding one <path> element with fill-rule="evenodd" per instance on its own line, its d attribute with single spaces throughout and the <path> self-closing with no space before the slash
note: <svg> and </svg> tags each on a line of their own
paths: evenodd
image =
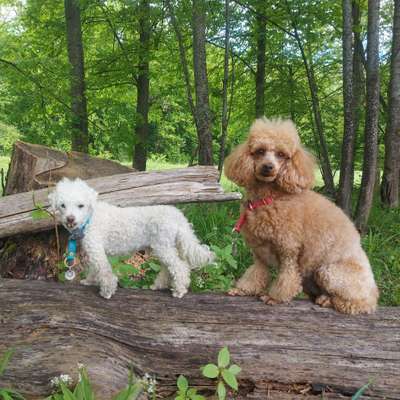
<svg viewBox="0 0 400 400">
<path fill-rule="evenodd" d="M 225 175 L 247 193 L 235 229 L 254 257 L 230 294 L 276 304 L 303 290 L 322 307 L 371 313 L 378 289 L 360 235 L 340 208 L 310 190 L 314 169 L 289 120 L 257 119 L 227 157 Z M 278 276 L 269 287 L 270 266 Z"/>
</svg>

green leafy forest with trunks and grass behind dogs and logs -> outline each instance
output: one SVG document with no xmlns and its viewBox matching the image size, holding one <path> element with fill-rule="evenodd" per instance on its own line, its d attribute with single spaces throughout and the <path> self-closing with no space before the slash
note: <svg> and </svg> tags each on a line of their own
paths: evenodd
<svg viewBox="0 0 400 400">
<path fill-rule="evenodd" d="M 399 0 L 0 0 L 3 179 L 18 139 L 221 169 L 255 117 L 291 118 L 400 305 L 399 50 Z M 195 289 L 227 289 L 238 206 L 185 212 L 221 260 Z"/>
</svg>

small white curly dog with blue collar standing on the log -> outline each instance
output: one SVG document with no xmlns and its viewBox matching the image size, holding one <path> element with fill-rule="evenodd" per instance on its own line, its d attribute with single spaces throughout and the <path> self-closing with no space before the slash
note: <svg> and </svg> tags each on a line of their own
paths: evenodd
<svg viewBox="0 0 400 400">
<path fill-rule="evenodd" d="M 161 263 L 152 289 L 172 288 L 182 297 L 190 284 L 190 270 L 211 263 L 214 254 L 201 245 L 185 216 L 172 206 L 120 208 L 97 201 L 97 192 L 80 179 L 64 178 L 49 194 L 53 211 L 72 233 L 80 231 L 89 271 L 84 285 L 99 285 L 109 299 L 117 289 L 107 255 L 129 255 L 150 249 Z"/>
</svg>

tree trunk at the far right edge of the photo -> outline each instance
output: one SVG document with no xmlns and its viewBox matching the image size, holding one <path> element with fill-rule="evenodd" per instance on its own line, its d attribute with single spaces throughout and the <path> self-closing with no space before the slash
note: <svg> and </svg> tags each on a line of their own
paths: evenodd
<svg viewBox="0 0 400 400">
<path fill-rule="evenodd" d="M 385 134 L 385 166 L 381 186 L 383 204 L 399 205 L 400 180 L 400 0 L 394 2 L 393 41 L 390 62 L 388 123 Z"/>
</svg>

